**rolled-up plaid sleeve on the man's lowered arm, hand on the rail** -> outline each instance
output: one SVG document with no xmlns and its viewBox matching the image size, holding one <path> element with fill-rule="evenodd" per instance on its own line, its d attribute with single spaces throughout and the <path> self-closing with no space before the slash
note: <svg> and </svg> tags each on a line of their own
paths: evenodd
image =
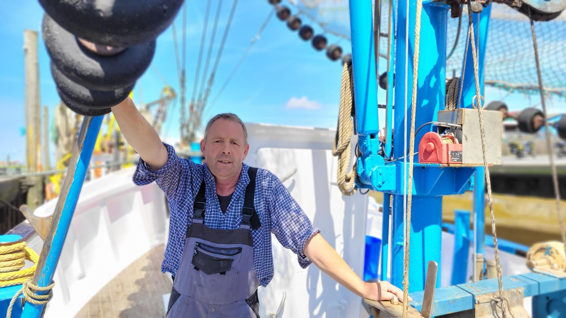
<svg viewBox="0 0 566 318">
<path fill-rule="evenodd" d="M 269 214 L 271 216 L 271 231 L 285 248 L 295 254 L 302 268 L 312 263 L 305 256 L 305 244 L 320 230 L 312 226 L 305 212 L 293 199 L 287 188 L 275 177 L 269 200 Z"/>
</svg>

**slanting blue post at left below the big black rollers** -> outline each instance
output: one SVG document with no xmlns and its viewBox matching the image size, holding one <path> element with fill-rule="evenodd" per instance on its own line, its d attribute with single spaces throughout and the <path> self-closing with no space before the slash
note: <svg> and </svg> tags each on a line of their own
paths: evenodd
<svg viewBox="0 0 566 318">
<path fill-rule="evenodd" d="M 49 286 L 53 281 L 53 275 L 69 226 L 71 218 L 75 212 L 76 203 L 79 199 L 80 189 L 83 187 L 84 178 L 87 174 L 88 164 L 91 161 L 92 151 L 95 147 L 98 131 L 102 124 L 104 116 L 84 117 L 83 124 L 80 128 L 79 137 L 75 145 L 75 152 L 71 158 L 71 165 L 65 177 L 62 186 L 61 195 L 57 201 L 55 212 L 53 213 L 53 224 L 49 229 L 47 238 L 45 239 L 43 248 L 41 249 L 40 260 L 37 264 L 33 282 L 40 287 Z M 75 165 L 73 163 L 75 162 Z M 37 294 L 46 294 L 46 292 L 38 292 Z M 41 316 L 44 305 L 36 305 L 30 302 L 25 303 L 22 317 L 38 318 Z"/>
</svg>

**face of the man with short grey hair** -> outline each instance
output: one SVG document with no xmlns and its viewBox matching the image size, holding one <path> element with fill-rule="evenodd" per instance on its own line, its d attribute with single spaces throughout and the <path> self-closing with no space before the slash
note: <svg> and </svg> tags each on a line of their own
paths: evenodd
<svg viewBox="0 0 566 318">
<path fill-rule="evenodd" d="M 242 125 L 224 118 L 213 122 L 207 139 L 200 141 L 200 151 L 216 178 L 239 176 L 249 148 Z"/>
</svg>

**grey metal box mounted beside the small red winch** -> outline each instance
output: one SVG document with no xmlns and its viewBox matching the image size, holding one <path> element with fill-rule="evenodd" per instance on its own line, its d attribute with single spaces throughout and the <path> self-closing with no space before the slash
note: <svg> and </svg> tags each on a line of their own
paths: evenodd
<svg viewBox="0 0 566 318">
<path fill-rule="evenodd" d="M 482 110 L 483 129 L 486 136 L 486 153 L 488 165 L 501 164 L 501 132 L 503 130 L 503 115 L 500 111 Z M 441 110 L 438 121 L 460 124 L 456 137 L 462 144 L 462 165 L 483 165 L 482 135 L 479 130 L 478 110 L 460 108 L 456 110 Z"/>
</svg>

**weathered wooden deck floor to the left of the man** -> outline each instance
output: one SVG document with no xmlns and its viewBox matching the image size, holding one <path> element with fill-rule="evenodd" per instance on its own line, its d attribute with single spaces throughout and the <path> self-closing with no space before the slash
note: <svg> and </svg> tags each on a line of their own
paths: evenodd
<svg viewBox="0 0 566 318">
<path fill-rule="evenodd" d="M 163 295 L 171 293 L 168 274 L 161 273 L 164 244 L 145 253 L 122 270 L 75 316 L 165 317 Z"/>
</svg>

